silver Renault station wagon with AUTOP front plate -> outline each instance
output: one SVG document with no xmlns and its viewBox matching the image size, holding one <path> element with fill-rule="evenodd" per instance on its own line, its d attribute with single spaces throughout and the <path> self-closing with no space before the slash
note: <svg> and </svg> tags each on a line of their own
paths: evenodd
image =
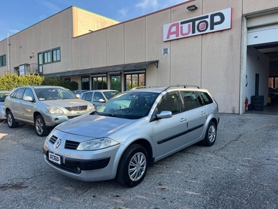
<svg viewBox="0 0 278 209">
<path fill-rule="evenodd" d="M 154 162 L 199 141 L 215 143 L 218 104 L 205 89 L 187 87 L 118 94 L 56 126 L 44 141 L 44 160 L 71 178 L 138 185 Z"/>
</svg>

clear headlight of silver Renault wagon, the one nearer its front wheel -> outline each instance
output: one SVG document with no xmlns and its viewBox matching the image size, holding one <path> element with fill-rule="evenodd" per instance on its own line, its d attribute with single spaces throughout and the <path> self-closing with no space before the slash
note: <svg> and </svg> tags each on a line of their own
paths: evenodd
<svg viewBox="0 0 278 209">
<path fill-rule="evenodd" d="M 117 144 L 119 144 L 117 141 L 109 138 L 93 139 L 80 143 L 77 150 L 100 150 Z"/>
</svg>

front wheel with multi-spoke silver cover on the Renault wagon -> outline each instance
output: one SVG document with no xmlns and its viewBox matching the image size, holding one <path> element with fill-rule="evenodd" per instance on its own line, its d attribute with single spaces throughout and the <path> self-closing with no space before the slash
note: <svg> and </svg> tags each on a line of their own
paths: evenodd
<svg viewBox="0 0 278 209">
<path fill-rule="evenodd" d="M 127 187 L 135 187 L 145 178 L 149 157 L 139 144 L 131 144 L 124 151 L 117 169 L 116 180 Z"/>
</svg>

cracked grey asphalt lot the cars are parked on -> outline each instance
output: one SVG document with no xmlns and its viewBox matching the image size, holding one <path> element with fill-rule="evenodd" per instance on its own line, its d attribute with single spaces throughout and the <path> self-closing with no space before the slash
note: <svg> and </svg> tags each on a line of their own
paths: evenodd
<svg viewBox="0 0 278 209">
<path fill-rule="evenodd" d="M 31 125 L 0 123 L 0 208 L 278 208 L 278 117 L 220 114 L 216 142 L 149 168 L 137 187 L 81 182 L 43 160 Z"/>
</svg>

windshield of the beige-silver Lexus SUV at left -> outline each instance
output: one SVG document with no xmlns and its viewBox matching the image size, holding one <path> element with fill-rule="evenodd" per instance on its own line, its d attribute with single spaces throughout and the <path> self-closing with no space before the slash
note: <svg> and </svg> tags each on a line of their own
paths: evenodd
<svg viewBox="0 0 278 209">
<path fill-rule="evenodd" d="M 35 88 L 35 93 L 39 100 L 66 100 L 76 99 L 76 95 L 72 91 L 65 88 L 51 87 L 51 88 Z"/>
</svg>

